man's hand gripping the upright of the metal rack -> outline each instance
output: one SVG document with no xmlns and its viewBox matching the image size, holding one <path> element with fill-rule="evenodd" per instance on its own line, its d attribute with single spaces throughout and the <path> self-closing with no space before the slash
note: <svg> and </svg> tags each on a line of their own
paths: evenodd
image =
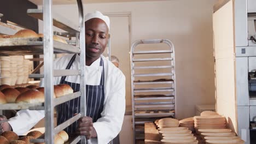
<svg viewBox="0 0 256 144">
<path fill-rule="evenodd" d="M 78 119 L 77 134 L 86 136 L 87 140 L 97 137 L 91 117 L 81 117 Z"/>
</svg>

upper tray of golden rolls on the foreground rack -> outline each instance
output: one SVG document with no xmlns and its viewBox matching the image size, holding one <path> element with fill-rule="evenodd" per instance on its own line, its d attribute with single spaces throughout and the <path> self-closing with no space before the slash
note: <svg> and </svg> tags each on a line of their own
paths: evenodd
<svg viewBox="0 0 256 144">
<path fill-rule="evenodd" d="M 30 29 L 22 29 L 14 35 L 0 35 L 1 55 L 31 55 L 43 53 L 43 34 L 37 34 Z M 68 45 L 65 39 L 54 35 L 54 52 L 79 53 L 79 48 Z M 67 49 L 67 50 L 66 50 Z"/>
</svg>

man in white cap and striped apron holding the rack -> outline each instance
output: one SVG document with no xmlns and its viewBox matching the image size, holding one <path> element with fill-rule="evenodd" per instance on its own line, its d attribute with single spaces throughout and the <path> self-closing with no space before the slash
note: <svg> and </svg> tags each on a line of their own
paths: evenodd
<svg viewBox="0 0 256 144">
<path fill-rule="evenodd" d="M 99 11 L 85 16 L 86 117 L 65 129 L 68 134 L 85 135 L 99 144 L 106 144 L 119 134 L 125 113 L 125 76 L 101 55 L 107 46 L 109 23 L 109 17 Z M 57 58 L 54 69 L 79 69 L 79 60 L 79 55 Z M 70 85 L 74 92 L 80 89 L 79 76 L 54 77 L 54 85 L 60 83 Z M 44 86 L 43 80 L 41 85 Z M 80 97 L 57 106 L 56 110 L 59 125 L 80 112 Z M 9 122 L 2 123 L 3 131 L 13 130 L 22 135 L 43 117 L 43 110 L 21 110 Z"/>
</svg>

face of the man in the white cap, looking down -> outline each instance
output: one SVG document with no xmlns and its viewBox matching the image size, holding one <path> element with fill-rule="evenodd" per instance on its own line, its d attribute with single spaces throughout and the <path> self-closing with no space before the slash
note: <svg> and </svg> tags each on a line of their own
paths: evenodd
<svg viewBox="0 0 256 144">
<path fill-rule="evenodd" d="M 108 26 L 101 19 L 90 19 L 85 22 L 86 56 L 99 58 L 108 43 Z"/>
</svg>

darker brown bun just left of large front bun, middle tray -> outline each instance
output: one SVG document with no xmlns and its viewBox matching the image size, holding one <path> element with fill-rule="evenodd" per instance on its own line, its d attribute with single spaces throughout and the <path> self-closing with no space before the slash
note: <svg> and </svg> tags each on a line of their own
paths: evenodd
<svg viewBox="0 0 256 144">
<path fill-rule="evenodd" d="M 15 103 L 16 98 L 20 92 L 15 88 L 5 88 L 2 93 L 5 95 L 7 103 Z"/>
</svg>

